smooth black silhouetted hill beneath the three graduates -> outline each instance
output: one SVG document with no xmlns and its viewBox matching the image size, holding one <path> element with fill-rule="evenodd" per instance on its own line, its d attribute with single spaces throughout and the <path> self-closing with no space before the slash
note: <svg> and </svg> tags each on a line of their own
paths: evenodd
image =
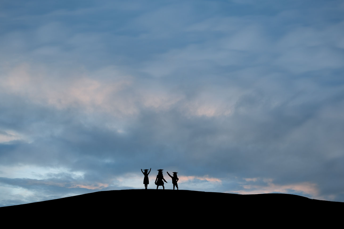
<svg viewBox="0 0 344 229">
<path fill-rule="evenodd" d="M 2 216 L 111 221 L 152 227 L 310 226 L 342 221 L 344 203 L 291 194 L 239 195 L 189 190 L 132 189 L 88 193 L 56 200 L 1 207 Z M 3 218 L 5 219 L 5 218 Z M 86 221 L 85 221 L 86 220 Z M 57 221 L 57 223 L 60 223 Z M 117 225 L 120 226 L 120 225 Z M 167 225 L 165 225 L 167 226 Z M 165 226 L 162 226 L 163 228 Z M 226 227 L 227 227 L 226 226 Z M 121 227 L 121 228 L 122 228 Z M 236 227 L 236 226 L 235 226 Z"/>
</svg>

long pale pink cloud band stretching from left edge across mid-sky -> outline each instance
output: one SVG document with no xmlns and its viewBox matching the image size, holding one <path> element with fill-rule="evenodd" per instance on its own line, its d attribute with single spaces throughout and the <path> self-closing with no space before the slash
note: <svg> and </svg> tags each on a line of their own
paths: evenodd
<svg viewBox="0 0 344 229">
<path fill-rule="evenodd" d="M 0 90 L 57 109 L 81 107 L 87 112 L 101 111 L 118 117 L 137 115 L 141 106 L 168 110 L 177 103 L 187 116 L 227 116 L 232 112 L 228 101 L 217 102 L 217 97 L 210 97 L 212 92 L 188 100 L 163 85 L 142 87 L 135 77 L 122 75 L 112 67 L 93 72 L 65 71 L 70 77 L 52 75 L 54 70 L 44 65 L 22 63 L 7 69 L 0 79 Z M 112 80 L 98 75 L 110 75 Z M 231 103 L 235 104 L 235 100 Z"/>
</svg>

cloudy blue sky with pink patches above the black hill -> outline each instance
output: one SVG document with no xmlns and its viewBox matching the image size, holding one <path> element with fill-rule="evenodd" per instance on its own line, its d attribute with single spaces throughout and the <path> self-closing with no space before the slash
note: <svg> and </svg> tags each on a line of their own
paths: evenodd
<svg viewBox="0 0 344 229">
<path fill-rule="evenodd" d="M 344 202 L 343 73 L 341 0 L 2 0 L 0 206 L 150 168 Z"/>
</svg>

